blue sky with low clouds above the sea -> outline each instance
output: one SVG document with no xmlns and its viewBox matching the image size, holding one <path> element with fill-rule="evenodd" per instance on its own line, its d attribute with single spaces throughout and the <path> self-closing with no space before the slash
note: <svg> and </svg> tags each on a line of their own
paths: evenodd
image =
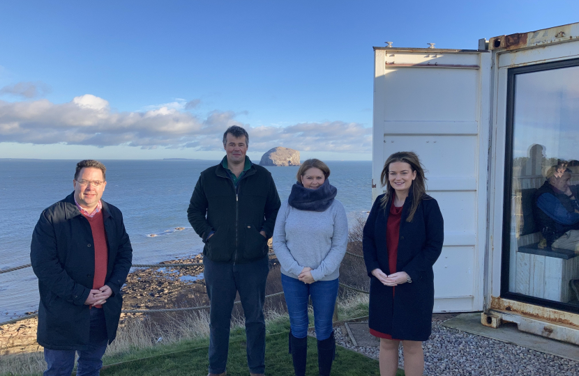
<svg viewBox="0 0 579 376">
<path fill-rule="evenodd" d="M 3 1 L 0 158 L 370 160 L 373 46 L 476 49 L 579 1 Z"/>
</svg>

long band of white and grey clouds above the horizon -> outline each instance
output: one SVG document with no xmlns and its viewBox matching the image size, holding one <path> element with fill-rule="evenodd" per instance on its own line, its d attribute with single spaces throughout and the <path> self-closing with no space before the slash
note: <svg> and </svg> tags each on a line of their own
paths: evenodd
<svg viewBox="0 0 579 376">
<path fill-rule="evenodd" d="M 251 127 L 236 120 L 238 113 L 234 111 L 194 115 L 185 111 L 190 102 L 179 100 L 183 104 L 179 108 L 165 105 L 146 111 L 118 112 L 110 109 L 107 100 L 91 94 L 64 104 L 48 100 L 0 101 L 0 142 L 223 150 L 223 132 L 231 125 L 240 125 L 248 131 L 250 151 L 255 152 L 276 146 L 300 151 L 371 150 L 372 132 L 358 123 L 326 121 Z"/>
</svg>

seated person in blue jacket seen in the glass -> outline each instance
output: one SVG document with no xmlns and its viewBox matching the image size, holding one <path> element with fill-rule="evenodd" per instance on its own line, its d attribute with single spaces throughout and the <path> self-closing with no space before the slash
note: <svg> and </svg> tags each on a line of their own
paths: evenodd
<svg viewBox="0 0 579 376">
<path fill-rule="evenodd" d="M 533 196 L 534 219 L 544 240 L 540 246 L 579 251 L 579 185 L 571 185 L 565 163 L 550 167 Z"/>
</svg>

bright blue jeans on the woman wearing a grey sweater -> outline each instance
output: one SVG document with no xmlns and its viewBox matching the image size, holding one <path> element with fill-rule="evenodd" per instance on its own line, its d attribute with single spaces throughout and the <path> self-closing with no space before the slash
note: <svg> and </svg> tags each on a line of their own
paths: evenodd
<svg viewBox="0 0 579 376">
<path fill-rule="evenodd" d="M 308 297 L 311 296 L 316 337 L 318 340 L 330 338 L 333 307 L 340 286 L 338 279 L 308 284 L 282 274 L 281 283 L 289 313 L 289 327 L 294 337 L 305 338 L 308 335 Z"/>
</svg>

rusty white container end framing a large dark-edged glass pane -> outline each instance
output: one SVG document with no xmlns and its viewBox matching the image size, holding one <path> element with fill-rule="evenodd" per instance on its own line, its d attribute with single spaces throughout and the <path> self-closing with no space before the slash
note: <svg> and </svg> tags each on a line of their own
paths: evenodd
<svg viewBox="0 0 579 376">
<path fill-rule="evenodd" d="M 520 313 L 556 317 L 577 333 L 579 23 L 489 45 L 496 83 L 491 308 L 512 313 L 515 304 L 505 301 L 518 301 Z"/>
</svg>

